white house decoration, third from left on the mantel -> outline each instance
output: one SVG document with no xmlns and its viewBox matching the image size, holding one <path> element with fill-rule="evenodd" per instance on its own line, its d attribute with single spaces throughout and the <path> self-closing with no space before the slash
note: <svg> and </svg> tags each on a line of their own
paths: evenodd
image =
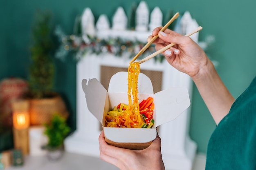
<svg viewBox="0 0 256 170">
<path fill-rule="evenodd" d="M 123 7 L 118 7 L 115 15 L 113 16 L 112 29 L 115 30 L 126 30 L 127 28 L 127 16 L 124 12 Z"/>
</svg>

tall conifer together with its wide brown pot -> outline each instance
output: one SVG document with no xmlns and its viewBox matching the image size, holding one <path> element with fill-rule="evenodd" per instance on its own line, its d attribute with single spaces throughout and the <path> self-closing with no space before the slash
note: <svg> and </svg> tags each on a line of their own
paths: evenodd
<svg viewBox="0 0 256 170">
<path fill-rule="evenodd" d="M 54 92 L 54 37 L 52 15 L 37 11 L 31 31 L 31 65 L 29 67 L 29 99 L 31 125 L 49 123 L 52 115 L 68 112 L 61 96 Z"/>
</svg>

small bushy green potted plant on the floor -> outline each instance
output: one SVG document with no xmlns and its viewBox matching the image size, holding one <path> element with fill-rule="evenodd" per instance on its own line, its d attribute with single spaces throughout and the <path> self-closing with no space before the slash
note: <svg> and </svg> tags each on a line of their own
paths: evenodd
<svg viewBox="0 0 256 170">
<path fill-rule="evenodd" d="M 44 147 L 48 152 L 47 156 L 50 160 L 58 160 L 63 154 L 64 139 L 70 132 L 65 118 L 60 114 L 54 114 L 50 123 L 45 124 L 44 134 L 48 138 L 48 143 Z"/>
</svg>

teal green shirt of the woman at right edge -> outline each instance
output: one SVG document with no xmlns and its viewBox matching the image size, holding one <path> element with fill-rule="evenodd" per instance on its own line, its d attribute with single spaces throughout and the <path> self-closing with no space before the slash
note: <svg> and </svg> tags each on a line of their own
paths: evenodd
<svg viewBox="0 0 256 170">
<path fill-rule="evenodd" d="M 211 135 L 206 170 L 256 170 L 256 77 Z"/>
</svg>

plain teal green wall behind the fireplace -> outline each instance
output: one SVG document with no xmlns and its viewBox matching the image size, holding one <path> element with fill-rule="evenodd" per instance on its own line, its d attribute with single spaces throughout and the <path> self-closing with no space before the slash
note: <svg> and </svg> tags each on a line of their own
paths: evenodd
<svg viewBox="0 0 256 170">
<path fill-rule="evenodd" d="M 217 71 L 230 92 L 237 98 L 256 75 L 256 1 L 255 0 L 148 0 L 150 10 L 158 6 L 164 15 L 190 11 L 207 35 L 216 37 L 208 51 L 219 62 Z M 54 23 L 72 34 L 74 19 L 85 7 L 90 7 L 97 20 L 105 13 L 112 17 L 118 6 L 130 12 L 138 0 L 2 0 L 0 2 L 0 80 L 6 77 L 27 78 L 30 30 L 36 9 L 49 9 Z M 106 5 L 106 3 L 108 3 Z M 55 89 L 65 99 L 71 117 L 68 123 L 75 129 L 76 63 L 72 58 L 56 63 Z M 207 143 L 216 127 L 196 87 L 193 89 L 190 136 L 198 143 L 198 152 L 207 151 Z"/>
</svg>

